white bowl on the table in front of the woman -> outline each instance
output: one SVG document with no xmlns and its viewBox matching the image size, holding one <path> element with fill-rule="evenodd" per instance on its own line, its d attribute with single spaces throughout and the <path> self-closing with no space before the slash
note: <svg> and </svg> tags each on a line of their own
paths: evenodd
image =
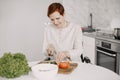
<svg viewBox="0 0 120 80">
<path fill-rule="evenodd" d="M 37 64 L 31 69 L 38 80 L 55 80 L 58 72 L 58 66 L 55 64 Z"/>
</svg>

